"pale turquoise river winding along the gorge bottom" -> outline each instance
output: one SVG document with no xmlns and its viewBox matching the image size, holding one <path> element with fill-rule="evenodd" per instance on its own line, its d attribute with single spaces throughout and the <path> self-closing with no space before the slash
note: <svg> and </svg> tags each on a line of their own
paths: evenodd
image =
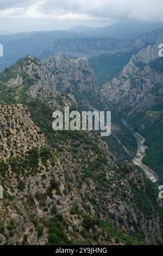
<svg viewBox="0 0 163 256">
<path fill-rule="evenodd" d="M 123 120 L 123 124 L 129 127 L 125 120 Z M 156 175 L 154 170 L 152 170 L 151 168 L 142 163 L 142 159 L 146 156 L 146 149 L 148 148 L 147 145 L 145 145 L 145 138 L 143 138 L 139 133 L 134 131 L 133 135 L 135 136 L 137 141 L 137 153 L 133 159 L 133 163 L 136 166 L 139 166 L 141 169 L 143 169 L 143 171 L 147 175 L 147 178 L 151 179 L 153 182 L 157 182 L 158 176 Z"/>
</svg>

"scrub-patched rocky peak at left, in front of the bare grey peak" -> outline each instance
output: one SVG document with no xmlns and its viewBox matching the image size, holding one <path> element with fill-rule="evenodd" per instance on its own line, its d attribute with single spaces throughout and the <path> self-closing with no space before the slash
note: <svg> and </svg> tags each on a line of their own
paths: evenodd
<svg viewBox="0 0 163 256">
<path fill-rule="evenodd" d="M 57 89 L 55 77 L 39 59 L 32 56 L 18 60 L 3 72 L 1 86 L 2 95 L 11 90 L 12 99 L 18 101 L 25 94 L 52 107 L 77 106 L 74 96 L 68 93 L 62 95 Z"/>
</svg>

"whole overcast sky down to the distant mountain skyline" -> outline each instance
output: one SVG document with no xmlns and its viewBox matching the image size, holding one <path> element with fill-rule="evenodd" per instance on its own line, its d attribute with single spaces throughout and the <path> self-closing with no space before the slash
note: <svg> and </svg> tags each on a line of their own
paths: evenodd
<svg viewBox="0 0 163 256">
<path fill-rule="evenodd" d="M 121 20 L 163 22 L 162 0 L 0 0 L 0 34 L 107 26 Z"/>
</svg>

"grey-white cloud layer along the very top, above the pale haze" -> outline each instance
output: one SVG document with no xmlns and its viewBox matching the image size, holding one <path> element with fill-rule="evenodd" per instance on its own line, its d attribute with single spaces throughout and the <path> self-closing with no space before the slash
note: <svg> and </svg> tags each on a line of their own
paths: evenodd
<svg viewBox="0 0 163 256">
<path fill-rule="evenodd" d="M 5 0 L 0 19 L 163 22 L 162 0 Z"/>
</svg>

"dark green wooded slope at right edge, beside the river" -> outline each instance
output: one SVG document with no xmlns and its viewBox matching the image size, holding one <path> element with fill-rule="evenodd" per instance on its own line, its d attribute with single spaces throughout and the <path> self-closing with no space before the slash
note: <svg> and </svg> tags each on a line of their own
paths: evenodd
<svg viewBox="0 0 163 256">
<path fill-rule="evenodd" d="M 159 184 L 163 181 L 163 105 L 159 102 L 157 105 L 139 114 L 139 118 L 130 119 L 130 124 L 134 130 L 142 135 L 148 146 L 143 163 L 152 168 L 159 176 Z M 141 125 L 145 124 L 142 128 Z"/>
</svg>

